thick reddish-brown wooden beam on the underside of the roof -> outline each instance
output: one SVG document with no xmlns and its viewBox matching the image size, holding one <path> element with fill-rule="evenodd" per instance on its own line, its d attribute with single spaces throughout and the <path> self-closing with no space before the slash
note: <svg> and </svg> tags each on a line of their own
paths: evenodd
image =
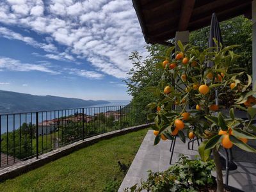
<svg viewBox="0 0 256 192">
<path fill-rule="evenodd" d="M 186 31 L 188 29 L 189 20 L 193 12 L 195 0 L 183 0 L 181 5 L 181 13 L 179 20 L 179 31 Z"/>
</svg>

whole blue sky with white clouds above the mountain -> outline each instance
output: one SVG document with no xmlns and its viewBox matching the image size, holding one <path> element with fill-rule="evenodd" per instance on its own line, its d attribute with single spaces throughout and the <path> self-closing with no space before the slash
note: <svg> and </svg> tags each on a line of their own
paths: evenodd
<svg viewBox="0 0 256 192">
<path fill-rule="evenodd" d="M 131 0 L 0 1 L 0 90 L 130 100 L 128 58 L 144 46 Z"/>
</svg>

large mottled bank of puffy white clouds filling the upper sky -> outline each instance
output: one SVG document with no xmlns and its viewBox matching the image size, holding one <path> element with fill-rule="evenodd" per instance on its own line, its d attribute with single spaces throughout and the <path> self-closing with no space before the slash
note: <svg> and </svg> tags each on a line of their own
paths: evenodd
<svg viewBox="0 0 256 192">
<path fill-rule="evenodd" d="M 147 54 L 130 0 L 45 2 L 1 1 L 0 22 L 47 36 L 47 44 L 42 46 L 44 50 L 54 49 L 52 40 L 68 49 L 64 54 L 49 52 L 44 55 L 46 58 L 70 61 L 83 58 L 100 72 L 124 78 L 132 67 L 129 54 L 132 51 L 140 51 L 143 56 Z M 13 6 L 17 8 L 13 9 Z"/>
</svg>

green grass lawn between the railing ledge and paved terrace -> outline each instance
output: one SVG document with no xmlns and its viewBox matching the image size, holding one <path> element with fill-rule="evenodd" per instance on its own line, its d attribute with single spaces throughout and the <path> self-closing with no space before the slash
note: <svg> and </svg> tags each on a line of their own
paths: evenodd
<svg viewBox="0 0 256 192">
<path fill-rule="evenodd" d="M 103 140 L 0 183 L 0 191 L 102 191 L 120 184 L 148 129 Z M 118 187 L 118 184 L 117 184 Z M 115 189 L 114 191 L 117 191 Z"/>
</svg>

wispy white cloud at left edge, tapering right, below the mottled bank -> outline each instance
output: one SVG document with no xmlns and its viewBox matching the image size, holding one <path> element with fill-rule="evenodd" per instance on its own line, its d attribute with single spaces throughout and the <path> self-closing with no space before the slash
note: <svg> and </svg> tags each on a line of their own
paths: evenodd
<svg viewBox="0 0 256 192">
<path fill-rule="evenodd" d="M 12 58 L 5 57 L 0 57 L 0 69 L 20 72 L 36 70 L 40 72 L 47 72 L 50 74 L 60 74 L 60 72 L 52 70 L 49 66 L 44 64 L 22 63 L 19 60 L 13 60 Z"/>
</svg>

